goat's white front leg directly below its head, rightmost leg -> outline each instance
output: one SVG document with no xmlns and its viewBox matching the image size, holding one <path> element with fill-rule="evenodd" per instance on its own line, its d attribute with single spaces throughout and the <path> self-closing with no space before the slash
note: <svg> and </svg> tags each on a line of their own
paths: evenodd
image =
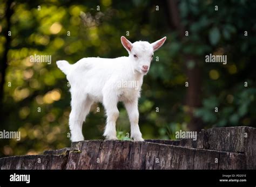
<svg viewBox="0 0 256 187">
<path fill-rule="evenodd" d="M 124 102 L 124 105 L 131 123 L 131 138 L 134 141 L 144 141 L 142 133 L 139 130 L 138 99 L 135 99 L 132 102 Z"/>
</svg>

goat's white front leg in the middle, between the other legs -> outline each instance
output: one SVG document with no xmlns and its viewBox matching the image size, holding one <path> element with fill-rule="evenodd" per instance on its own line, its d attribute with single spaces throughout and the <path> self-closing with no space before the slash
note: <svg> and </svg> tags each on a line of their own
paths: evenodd
<svg viewBox="0 0 256 187">
<path fill-rule="evenodd" d="M 107 140 L 117 140 L 116 121 L 119 116 L 117 102 L 118 98 L 114 95 L 103 96 L 103 105 L 107 115 L 106 127 L 103 135 Z"/>
</svg>

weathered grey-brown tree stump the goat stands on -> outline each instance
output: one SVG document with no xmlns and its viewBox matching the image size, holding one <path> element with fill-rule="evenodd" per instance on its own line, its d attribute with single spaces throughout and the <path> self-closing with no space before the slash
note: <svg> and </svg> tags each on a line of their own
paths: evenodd
<svg viewBox="0 0 256 187">
<path fill-rule="evenodd" d="M 0 169 L 256 169 L 256 128 L 202 130 L 197 140 L 87 140 L 44 155 L 0 159 Z"/>
</svg>

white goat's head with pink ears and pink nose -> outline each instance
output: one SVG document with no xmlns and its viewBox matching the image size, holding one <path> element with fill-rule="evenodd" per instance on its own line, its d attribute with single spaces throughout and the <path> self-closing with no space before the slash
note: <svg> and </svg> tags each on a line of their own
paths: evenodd
<svg viewBox="0 0 256 187">
<path fill-rule="evenodd" d="M 121 37 L 121 42 L 129 53 L 129 58 L 134 70 L 142 74 L 146 74 L 149 71 L 154 51 L 157 51 L 157 49 L 164 44 L 165 40 L 166 37 L 152 44 L 147 41 L 136 41 L 132 44 L 125 37 Z"/>
</svg>

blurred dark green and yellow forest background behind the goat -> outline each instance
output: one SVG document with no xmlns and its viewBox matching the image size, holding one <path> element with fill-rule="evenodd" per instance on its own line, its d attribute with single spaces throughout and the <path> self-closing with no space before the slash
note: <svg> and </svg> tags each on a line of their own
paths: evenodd
<svg viewBox="0 0 256 187">
<path fill-rule="evenodd" d="M 144 139 L 255 127 L 255 10 L 253 0 L 1 1 L 0 131 L 20 131 L 21 140 L 0 139 L 0 157 L 70 146 L 70 87 L 56 60 L 125 56 L 122 35 L 131 42 L 167 37 L 144 77 Z M 51 64 L 30 62 L 35 54 L 51 55 Z M 209 54 L 227 55 L 227 64 L 206 63 Z M 118 138 L 126 140 L 129 119 L 118 108 Z M 95 104 L 85 139 L 103 139 L 104 126 L 104 108 Z"/>
</svg>

